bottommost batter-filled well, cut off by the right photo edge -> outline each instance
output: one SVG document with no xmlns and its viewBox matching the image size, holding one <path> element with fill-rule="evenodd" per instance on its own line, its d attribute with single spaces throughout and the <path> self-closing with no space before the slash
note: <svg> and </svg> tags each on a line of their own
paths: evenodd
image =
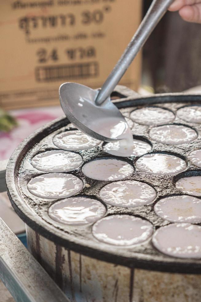
<svg viewBox="0 0 201 302">
<path fill-rule="evenodd" d="M 152 237 L 162 253 L 178 258 L 201 257 L 201 227 L 190 223 L 172 223 L 160 227 Z"/>
</svg>

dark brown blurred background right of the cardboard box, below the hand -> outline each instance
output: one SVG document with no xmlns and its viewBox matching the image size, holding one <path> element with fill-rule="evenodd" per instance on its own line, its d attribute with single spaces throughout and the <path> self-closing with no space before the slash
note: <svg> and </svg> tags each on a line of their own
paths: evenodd
<svg viewBox="0 0 201 302">
<path fill-rule="evenodd" d="M 143 14 L 151 0 L 144 1 Z M 201 25 L 167 12 L 143 50 L 142 84 L 154 92 L 181 92 L 201 84 Z"/>
</svg>

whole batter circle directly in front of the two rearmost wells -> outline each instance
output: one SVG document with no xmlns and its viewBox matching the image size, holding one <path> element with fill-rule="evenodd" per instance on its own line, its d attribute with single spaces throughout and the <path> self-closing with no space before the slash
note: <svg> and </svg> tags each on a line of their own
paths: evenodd
<svg viewBox="0 0 201 302">
<path fill-rule="evenodd" d="M 167 145 L 181 145 L 194 141 L 198 135 L 195 130 L 183 125 L 164 125 L 152 128 L 152 140 Z"/>
</svg>

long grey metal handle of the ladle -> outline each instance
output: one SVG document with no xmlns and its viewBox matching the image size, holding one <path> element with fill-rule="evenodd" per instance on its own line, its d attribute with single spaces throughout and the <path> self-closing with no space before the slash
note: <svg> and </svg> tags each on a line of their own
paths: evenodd
<svg viewBox="0 0 201 302">
<path fill-rule="evenodd" d="M 143 47 L 144 43 L 147 41 L 148 37 L 164 16 L 168 7 L 174 0 L 153 0 L 151 6 L 144 19 L 142 20 L 140 26 L 138 27 L 135 35 L 132 37 L 131 42 L 125 49 L 123 55 L 116 63 L 116 66 L 112 70 L 111 74 L 108 76 L 107 80 L 104 82 L 97 98 L 96 104 L 101 105 L 104 100 L 110 96 L 115 86 L 119 83 L 120 79 L 128 69 L 132 60 L 136 57 L 137 53 Z"/>
</svg>

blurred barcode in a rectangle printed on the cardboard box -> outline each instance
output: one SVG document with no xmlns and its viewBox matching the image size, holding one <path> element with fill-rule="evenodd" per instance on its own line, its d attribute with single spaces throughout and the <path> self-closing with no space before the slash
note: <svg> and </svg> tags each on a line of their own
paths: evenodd
<svg viewBox="0 0 201 302">
<path fill-rule="evenodd" d="M 98 62 L 66 65 L 39 66 L 35 69 L 38 82 L 68 80 L 73 78 L 91 78 L 99 74 Z"/>
</svg>

